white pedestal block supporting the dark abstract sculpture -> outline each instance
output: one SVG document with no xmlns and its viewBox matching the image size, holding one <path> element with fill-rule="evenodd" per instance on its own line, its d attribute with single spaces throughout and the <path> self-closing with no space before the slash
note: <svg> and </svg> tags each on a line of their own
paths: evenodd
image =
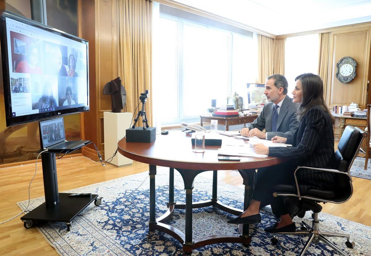
<svg viewBox="0 0 371 256">
<path fill-rule="evenodd" d="M 117 143 L 126 135 L 126 129 L 131 124 L 132 113 L 112 113 L 104 112 L 104 160 L 113 156 L 117 149 Z M 133 160 L 117 152 L 110 162 L 117 166 L 132 164 Z"/>
</svg>

